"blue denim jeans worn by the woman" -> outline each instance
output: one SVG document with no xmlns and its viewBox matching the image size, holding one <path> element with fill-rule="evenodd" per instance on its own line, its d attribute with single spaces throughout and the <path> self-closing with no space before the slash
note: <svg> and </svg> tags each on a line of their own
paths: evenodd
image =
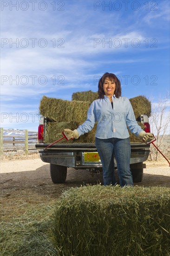
<svg viewBox="0 0 170 256">
<path fill-rule="evenodd" d="M 133 179 L 130 170 L 131 144 L 129 138 L 98 139 L 96 148 L 103 166 L 104 185 L 115 185 L 114 156 L 116 158 L 120 186 L 133 186 Z"/>
</svg>

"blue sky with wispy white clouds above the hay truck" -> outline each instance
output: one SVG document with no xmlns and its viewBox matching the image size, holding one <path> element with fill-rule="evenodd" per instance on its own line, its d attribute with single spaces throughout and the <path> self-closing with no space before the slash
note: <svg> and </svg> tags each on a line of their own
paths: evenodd
<svg viewBox="0 0 170 256">
<path fill-rule="evenodd" d="M 71 100 L 116 74 L 122 96 L 170 88 L 170 1 L 1 1 L 1 127 L 37 131 L 43 95 Z"/>
</svg>

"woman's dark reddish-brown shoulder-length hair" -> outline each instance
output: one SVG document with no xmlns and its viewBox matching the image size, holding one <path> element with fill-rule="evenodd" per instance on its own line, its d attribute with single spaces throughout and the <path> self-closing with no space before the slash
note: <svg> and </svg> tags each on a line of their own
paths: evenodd
<svg viewBox="0 0 170 256">
<path fill-rule="evenodd" d="M 118 80 L 118 77 L 115 74 L 112 73 L 105 73 L 100 80 L 98 81 L 98 99 L 103 99 L 105 92 L 103 89 L 103 84 L 106 78 L 109 78 L 111 81 L 114 81 L 116 84 L 116 88 L 115 88 L 115 96 L 116 98 L 119 98 L 121 96 L 121 84 L 120 81 Z"/>
</svg>

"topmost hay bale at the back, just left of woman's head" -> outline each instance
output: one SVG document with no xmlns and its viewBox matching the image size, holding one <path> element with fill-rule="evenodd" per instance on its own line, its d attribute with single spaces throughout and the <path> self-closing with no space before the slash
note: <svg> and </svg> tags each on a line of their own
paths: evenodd
<svg viewBox="0 0 170 256">
<path fill-rule="evenodd" d="M 72 101 L 95 101 L 98 99 L 98 92 L 85 91 L 72 94 Z"/>
</svg>

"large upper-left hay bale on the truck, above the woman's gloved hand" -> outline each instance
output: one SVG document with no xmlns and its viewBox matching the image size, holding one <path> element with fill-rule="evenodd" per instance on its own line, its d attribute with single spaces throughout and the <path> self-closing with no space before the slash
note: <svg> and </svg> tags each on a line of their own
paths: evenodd
<svg viewBox="0 0 170 256">
<path fill-rule="evenodd" d="M 65 101 L 43 96 L 39 105 L 39 113 L 55 122 L 83 123 L 90 104 L 88 101 Z"/>
</svg>

